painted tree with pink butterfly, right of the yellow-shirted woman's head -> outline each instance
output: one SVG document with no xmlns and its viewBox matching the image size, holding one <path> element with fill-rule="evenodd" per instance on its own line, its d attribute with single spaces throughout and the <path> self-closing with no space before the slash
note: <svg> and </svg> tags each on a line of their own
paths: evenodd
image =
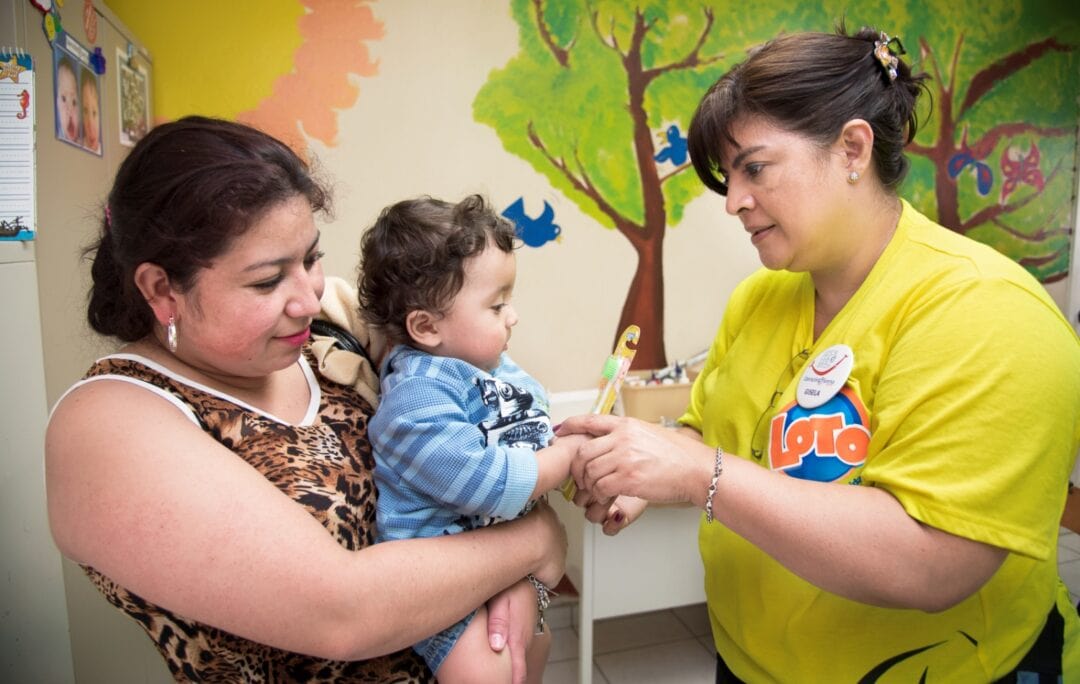
<svg viewBox="0 0 1080 684">
<path fill-rule="evenodd" d="M 903 193 L 1042 282 L 1068 274 L 1080 108 L 1080 14 L 1064 2 L 910 9 L 906 35 L 933 80 Z"/>
</svg>

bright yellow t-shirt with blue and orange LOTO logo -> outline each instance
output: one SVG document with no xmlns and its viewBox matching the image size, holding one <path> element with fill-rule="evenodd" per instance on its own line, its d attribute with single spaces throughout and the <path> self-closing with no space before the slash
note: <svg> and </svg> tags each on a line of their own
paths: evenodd
<svg viewBox="0 0 1080 684">
<path fill-rule="evenodd" d="M 823 354 L 837 345 L 854 361 L 843 389 L 804 407 L 800 377 L 842 361 L 846 350 Z M 928 614 L 818 589 L 702 523 L 716 648 L 742 679 L 993 681 L 1055 602 L 1065 681 L 1080 678 L 1080 620 L 1056 566 L 1080 446 L 1080 339 L 1015 263 L 904 202 L 889 246 L 816 340 L 809 276 L 758 271 L 732 295 L 680 421 L 791 477 L 882 487 L 916 520 L 1010 551 L 974 595 Z"/>
</svg>

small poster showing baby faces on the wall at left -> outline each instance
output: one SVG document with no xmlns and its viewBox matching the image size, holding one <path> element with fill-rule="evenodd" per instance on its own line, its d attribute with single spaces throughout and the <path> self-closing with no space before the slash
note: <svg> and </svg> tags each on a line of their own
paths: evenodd
<svg viewBox="0 0 1080 684">
<path fill-rule="evenodd" d="M 56 139 L 102 156 L 102 84 L 90 51 L 68 33 L 53 41 Z"/>
</svg>

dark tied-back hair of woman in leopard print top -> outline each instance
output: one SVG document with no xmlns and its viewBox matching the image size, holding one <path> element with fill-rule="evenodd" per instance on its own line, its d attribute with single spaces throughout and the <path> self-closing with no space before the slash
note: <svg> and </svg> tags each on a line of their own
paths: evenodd
<svg viewBox="0 0 1080 684">
<path fill-rule="evenodd" d="M 284 143 L 242 123 L 186 117 L 153 128 L 124 159 L 105 205 L 87 319 L 124 341 L 153 330 L 135 269 L 160 266 L 179 291 L 266 213 L 296 197 L 329 211 L 328 190 Z"/>
</svg>

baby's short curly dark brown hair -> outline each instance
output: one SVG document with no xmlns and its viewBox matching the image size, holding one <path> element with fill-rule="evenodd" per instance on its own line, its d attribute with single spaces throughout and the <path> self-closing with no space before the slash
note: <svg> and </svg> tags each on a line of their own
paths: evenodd
<svg viewBox="0 0 1080 684">
<path fill-rule="evenodd" d="M 443 316 L 464 284 L 464 261 L 488 241 L 517 246 L 514 226 L 480 195 L 457 204 L 431 197 L 382 210 L 361 239 L 360 313 L 390 344 L 409 340 L 410 311 Z"/>
</svg>

